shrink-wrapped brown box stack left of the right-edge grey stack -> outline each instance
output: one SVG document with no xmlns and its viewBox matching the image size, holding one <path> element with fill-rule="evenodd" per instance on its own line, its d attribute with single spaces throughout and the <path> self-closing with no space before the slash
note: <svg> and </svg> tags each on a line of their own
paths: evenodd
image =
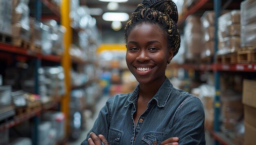
<svg viewBox="0 0 256 145">
<path fill-rule="evenodd" d="M 240 10 L 232 10 L 219 17 L 218 42 L 218 54 L 240 49 Z"/>
</svg>

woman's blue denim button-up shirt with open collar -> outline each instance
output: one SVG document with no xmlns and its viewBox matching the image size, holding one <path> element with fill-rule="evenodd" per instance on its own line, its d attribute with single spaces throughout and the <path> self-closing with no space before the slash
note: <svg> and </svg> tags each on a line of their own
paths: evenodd
<svg viewBox="0 0 256 145">
<path fill-rule="evenodd" d="M 179 145 L 205 145 L 204 109 L 196 96 L 166 78 L 135 126 L 138 94 L 139 86 L 109 98 L 90 132 L 102 134 L 110 145 L 159 145 L 170 137 L 178 137 Z M 88 145 L 90 132 L 81 145 Z"/>
</svg>

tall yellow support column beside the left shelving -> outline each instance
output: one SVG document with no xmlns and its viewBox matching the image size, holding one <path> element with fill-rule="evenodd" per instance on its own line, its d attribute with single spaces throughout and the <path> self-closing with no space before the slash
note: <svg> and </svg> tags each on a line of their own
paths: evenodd
<svg viewBox="0 0 256 145">
<path fill-rule="evenodd" d="M 71 64 L 72 60 L 69 54 L 69 48 L 72 43 L 72 29 L 70 27 L 70 18 L 69 18 L 69 13 L 70 13 L 70 1 L 69 0 L 62 0 L 61 4 L 61 25 L 66 27 L 66 33 L 64 35 L 64 53 L 63 53 L 63 59 L 62 59 L 62 66 L 64 69 L 64 74 L 65 74 L 65 87 L 66 87 L 66 92 L 65 96 L 63 96 L 61 100 L 61 111 L 65 114 L 66 116 L 66 121 L 65 121 L 65 133 L 66 135 L 69 134 L 69 110 L 70 110 L 70 91 L 71 91 L 71 77 L 70 77 L 70 71 L 71 71 Z"/>
</svg>

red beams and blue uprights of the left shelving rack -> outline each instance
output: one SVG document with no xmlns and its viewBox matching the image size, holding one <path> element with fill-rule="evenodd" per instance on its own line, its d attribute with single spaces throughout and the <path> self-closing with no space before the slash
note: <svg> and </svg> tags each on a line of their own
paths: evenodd
<svg viewBox="0 0 256 145">
<path fill-rule="evenodd" d="M 42 10 L 41 10 L 42 2 L 51 11 L 53 11 L 54 18 L 57 17 L 58 20 L 60 20 L 61 13 L 59 11 L 59 8 L 57 8 L 56 5 L 54 5 L 52 2 L 50 2 L 50 0 L 35 0 L 34 1 L 34 7 L 35 7 L 34 15 L 35 15 L 36 20 L 41 21 L 41 19 L 43 18 Z M 68 3 L 68 0 L 66 3 Z M 68 37 L 70 37 L 70 35 Z M 61 64 L 61 62 L 63 61 L 63 57 L 64 57 L 64 56 L 57 56 L 57 55 L 44 55 L 39 52 L 34 52 L 31 50 L 28 50 L 27 48 L 25 48 L 23 46 L 16 47 L 16 46 L 2 43 L 2 42 L 0 42 L 0 52 L 2 52 L 2 55 L 14 54 L 16 56 L 22 56 L 23 58 L 32 58 L 32 61 L 34 62 L 34 79 L 35 79 L 34 93 L 35 94 L 39 93 L 38 69 L 41 67 L 42 61 L 56 62 L 57 64 Z M 61 103 L 61 101 L 62 101 L 61 97 L 56 97 L 53 100 L 50 100 L 50 102 L 44 103 L 40 107 L 31 109 L 30 112 L 25 112 L 25 113 L 13 116 L 9 119 L 3 120 L 0 124 L 0 132 L 4 131 L 5 129 L 14 127 L 26 120 L 33 119 L 32 143 L 33 143 L 33 145 L 37 145 L 38 144 L 38 125 L 40 122 L 40 114 L 46 110 L 52 109 L 54 107 L 58 107 L 58 105 Z M 64 138 L 64 140 L 65 139 L 66 139 L 66 137 Z"/>
</svg>

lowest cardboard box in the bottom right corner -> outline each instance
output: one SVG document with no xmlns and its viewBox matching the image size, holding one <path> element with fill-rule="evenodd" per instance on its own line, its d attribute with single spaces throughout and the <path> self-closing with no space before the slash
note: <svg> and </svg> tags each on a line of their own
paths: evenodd
<svg viewBox="0 0 256 145">
<path fill-rule="evenodd" d="M 255 145 L 256 128 L 245 122 L 245 145 Z"/>
</svg>

